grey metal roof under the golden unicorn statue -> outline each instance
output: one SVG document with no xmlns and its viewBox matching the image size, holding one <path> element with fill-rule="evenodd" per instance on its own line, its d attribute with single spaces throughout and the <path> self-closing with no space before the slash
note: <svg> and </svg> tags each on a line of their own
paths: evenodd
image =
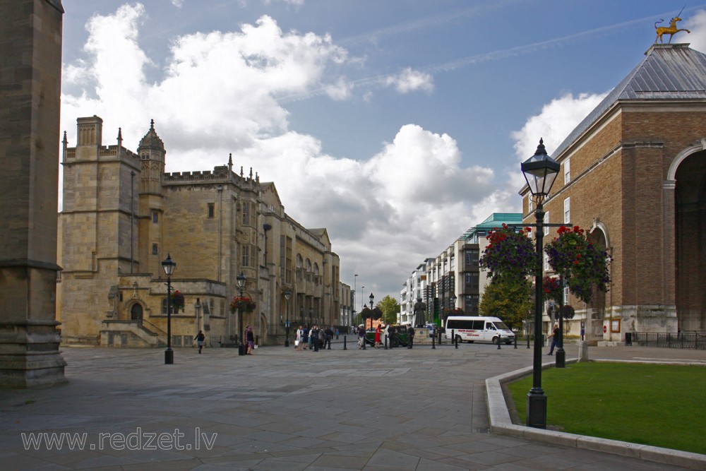
<svg viewBox="0 0 706 471">
<path fill-rule="evenodd" d="M 706 54 L 690 49 L 689 44 L 652 45 L 645 59 L 556 148 L 554 158 L 614 103 L 630 100 L 706 100 Z"/>
</svg>

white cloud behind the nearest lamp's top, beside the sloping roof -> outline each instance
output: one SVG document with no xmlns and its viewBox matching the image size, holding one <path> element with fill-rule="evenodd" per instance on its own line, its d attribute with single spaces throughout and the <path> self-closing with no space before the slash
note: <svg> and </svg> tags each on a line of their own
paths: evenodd
<svg viewBox="0 0 706 471">
<path fill-rule="evenodd" d="M 551 100 L 542 107 L 542 112 L 527 119 L 520 131 L 511 133 L 515 140 L 517 158 L 525 161 L 532 156 L 539 145 L 539 138 L 544 139 L 546 152 L 551 155 L 606 95 L 607 93 L 600 95 L 580 93 L 575 97 L 571 93 L 566 93 Z"/>
</svg>

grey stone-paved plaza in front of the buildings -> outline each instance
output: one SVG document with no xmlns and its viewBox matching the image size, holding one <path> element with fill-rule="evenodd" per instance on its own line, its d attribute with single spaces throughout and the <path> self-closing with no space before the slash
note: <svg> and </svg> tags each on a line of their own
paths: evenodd
<svg viewBox="0 0 706 471">
<path fill-rule="evenodd" d="M 64 347 L 66 384 L 1 391 L 0 468 L 681 469 L 491 434 L 485 380 L 531 366 L 525 345 L 342 347 L 184 348 L 172 365 L 162 349 Z M 703 351 L 637 346 L 590 357 L 706 363 Z"/>
</svg>

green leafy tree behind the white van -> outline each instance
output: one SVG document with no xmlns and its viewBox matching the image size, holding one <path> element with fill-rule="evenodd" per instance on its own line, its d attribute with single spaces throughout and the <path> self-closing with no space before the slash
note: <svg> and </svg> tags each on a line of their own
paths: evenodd
<svg viewBox="0 0 706 471">
<path fill-rule="evenodd" d="M 481 316 L 499 317 L 512 330 L 520 330 L 532 309 L 532 285 L 526 278 L 493 278 L 481 297 Z"/>
</svg>

